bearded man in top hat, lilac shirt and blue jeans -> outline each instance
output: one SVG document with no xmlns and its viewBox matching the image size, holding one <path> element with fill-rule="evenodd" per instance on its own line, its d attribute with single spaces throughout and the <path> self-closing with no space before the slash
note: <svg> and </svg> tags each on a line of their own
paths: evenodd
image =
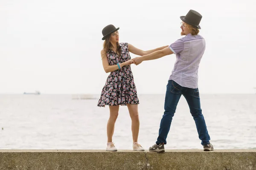
<svg viewBox="0 0 256 170">
<path fill-rule="evenodd" d="M 199 26 L 201 18 L 201 14 L 197 11 L 189 10 L 186 16 L 180 17 L 182 20 L 180 34 L 185 35 L 185 37 L 180 38 L 163 50 L 133 59 L 134 63 L 138 65 L 145 60 L 176 54 L 176 62 L 167 84 L 165 111 L 160 122 L 159 136 L 156 144 L 149 147 L 149 151 L 164 152 L 164 144 L 166 144 L 172 117 L 181 95 L 185 97 L 189 105 L 204 151 L 213 150 L 213 146 L 209 142 L 210 136 L 202 114 L 198 91 L 198 67 L 205 50 L 205 40 L 198 35 L 199 29 L 201 29 Z"/>
</svg>

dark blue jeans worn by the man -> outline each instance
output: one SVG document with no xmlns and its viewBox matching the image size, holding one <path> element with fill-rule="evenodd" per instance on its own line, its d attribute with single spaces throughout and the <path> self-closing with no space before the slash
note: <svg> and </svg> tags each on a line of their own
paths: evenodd
<svg viewBox="0 0 256 170">
<path fill-rule="evenodd" d="M 165 111 L 163 114 L 163 118 L 161 119 L 159 136 L 157 138 L 156 144 L 166 144 L 166 138 L 171 127 L 172 117 L 174 116 L 181 95 L 185 97 L 189 105 L 190 113 L 195 120 L 199 139 L 201 139 L 202 141 L 201 144 L 209 144 L 210 136 L 208 134 L 207 127 L 204 121 L 204 116 L 202 114 L 198 88 L 185 88 L 180 86 L 173 80 L 169 80 L 167 84 L 164 103 Z"/>
</svg>

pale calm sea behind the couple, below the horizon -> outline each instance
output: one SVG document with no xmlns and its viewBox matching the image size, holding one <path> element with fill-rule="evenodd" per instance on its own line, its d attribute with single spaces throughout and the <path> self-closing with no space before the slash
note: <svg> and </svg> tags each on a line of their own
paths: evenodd
<svg viewBox="0 0 256 170">
<path fill-rule="evenodd" d="M 145 148 L 157 139 L 165 94 L 138 94 L 140 132 Z M 210 142 L 215 149 L 256 149 L 256 94 L 200 94 Z M 105 150 L 108 106 L 99 94 L 0 94 L 0 149 Z M 131 118 L 120 106 L 113 134 L 117 149 L 132 149 Z M 195 122 L 182 96 L 166 149 L 202 149 Z"/>
</svg>

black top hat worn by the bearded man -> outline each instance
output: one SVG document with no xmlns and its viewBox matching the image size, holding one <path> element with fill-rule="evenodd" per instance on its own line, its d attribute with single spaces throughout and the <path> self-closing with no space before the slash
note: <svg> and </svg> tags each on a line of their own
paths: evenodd
<svg viewBox="0 0 256 170">
<path fill-rule="evenodd" d="M 201 27 L 199 26 L 201 19 L 202 19 L 202 15 L 192 9 L 189 10 L 186 16 L 180 16 L 180 20 L 183 20 L 185 23 L 188 23 L 199 29 L 201 29 Z"/>
</svg>

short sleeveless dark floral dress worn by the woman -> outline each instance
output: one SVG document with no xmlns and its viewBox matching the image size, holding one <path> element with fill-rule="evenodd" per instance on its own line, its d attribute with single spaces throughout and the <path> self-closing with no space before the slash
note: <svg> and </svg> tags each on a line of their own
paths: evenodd
<svg viewBox="0 0 256 170">
<path fill-rule="evenodd" d="M 113 50 L 107 52 L 109 65 L 125 62 L 131 59 L 128 51 L 128 43 L 120 43 L 121 55 L 118 56 Z M 108 76 L 98 102 L 99 107 L 105 105 L 116 106 L 126 104 L 139 104 L 131 65 L 125 65 L 121 69 L 112 71 Z"/>
</svg>

